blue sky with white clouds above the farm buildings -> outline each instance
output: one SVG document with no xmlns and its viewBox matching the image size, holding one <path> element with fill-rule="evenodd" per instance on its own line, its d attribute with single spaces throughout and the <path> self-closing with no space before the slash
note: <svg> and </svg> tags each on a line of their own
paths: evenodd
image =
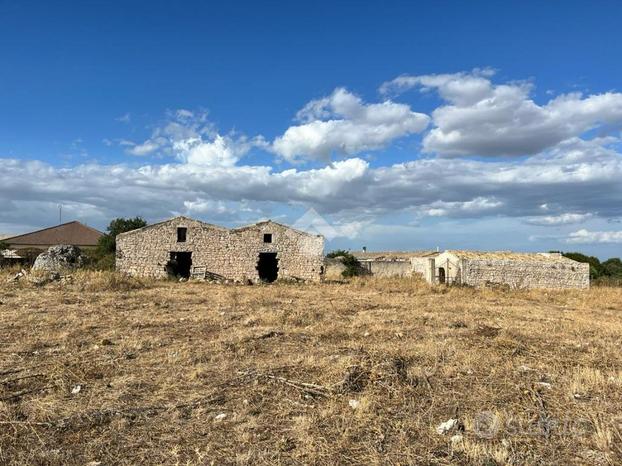
<svg viewBox="0 0 622 466">
<path fill-rule="evenodd" d="M 330 247 L 619 256 L 596 6 L 0 1 L 0 232 L 313 208 Z"/>
</svg>

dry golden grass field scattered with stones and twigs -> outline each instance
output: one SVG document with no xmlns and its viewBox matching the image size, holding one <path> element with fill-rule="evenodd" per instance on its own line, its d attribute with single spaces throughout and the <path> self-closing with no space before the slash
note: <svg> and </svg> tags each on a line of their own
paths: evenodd
<svg viewBox="0 0 622 466">
<path fill-rule="evenodd" d="M 620 288 L 0 278 L 2 464 L 622 462 Z"/>
</svg>

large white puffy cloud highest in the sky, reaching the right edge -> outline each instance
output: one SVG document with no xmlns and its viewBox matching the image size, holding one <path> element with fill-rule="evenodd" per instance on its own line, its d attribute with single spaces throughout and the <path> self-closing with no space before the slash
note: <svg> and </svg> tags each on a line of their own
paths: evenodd
<svg viewBox="0 0 622 466">
<path fill-rule="evenodd" d="M 622 123 L 622 94 L 560 95 L 540 105 L 527 82 L 494 84 L 491 72 L 401 76 L 381 91 L 437 90 L 427 152 L 441 155 L 533 155 L 603 125 Z"/>
</svg>

